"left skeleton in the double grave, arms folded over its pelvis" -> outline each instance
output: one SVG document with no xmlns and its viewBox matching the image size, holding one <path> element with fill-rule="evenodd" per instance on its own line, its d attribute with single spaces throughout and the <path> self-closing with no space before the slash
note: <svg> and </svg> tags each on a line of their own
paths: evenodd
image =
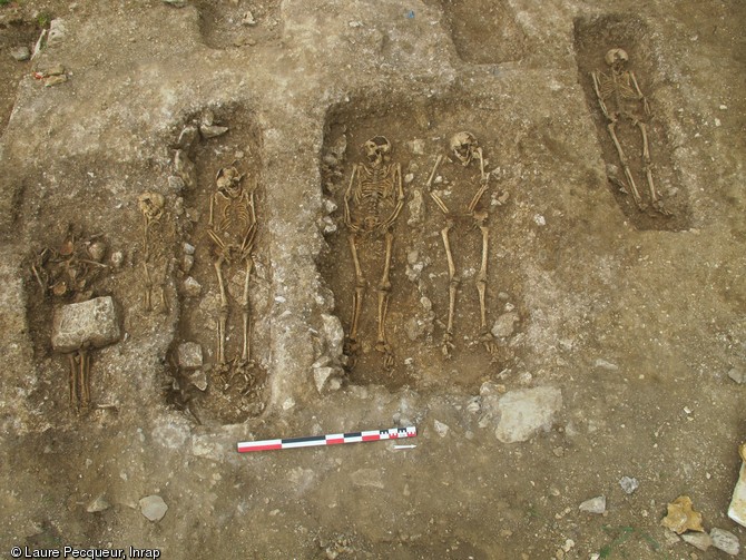
<svg viewBox="0 0 746 560">
<path fill-rule="evenodd" d="M 363 146 L 366 161 L 355 164 L 350 186 L 344 195 L 344 223 L 350 230 L 349 242 L 355 265 L 355 293 L 352 299 L 352 320 L 347 336 L 349 351 L 354 353 L 357 342 L 360 314 L 365 294 L 365 277 L 360 264 L 357 243 L 361 237 L 383 236 L 385 257 L 379 283 L 377 340 L 375 348 L 384 354 L 384 366 L 393 366 L 393 354 L 385 334 L 386 311 L 391 293 L 391 255 L 394 223 L 404 205 L 404 188 L 400 164 L 390 163 L 391 143 L 383 136 L 367 140 Z"/>
</svg>

